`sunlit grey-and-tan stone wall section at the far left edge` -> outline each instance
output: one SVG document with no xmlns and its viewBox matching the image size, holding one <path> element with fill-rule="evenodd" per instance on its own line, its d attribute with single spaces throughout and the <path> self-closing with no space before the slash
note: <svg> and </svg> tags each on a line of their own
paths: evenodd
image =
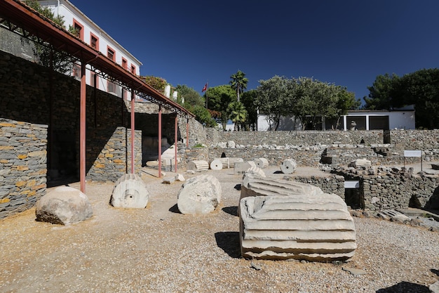
<svg viewBox="0 0 439 293">
<path fill-rule="evenodd" d="M 47 126 L 0 118 L 0 219 L 46 193 Z"/>
</svg>

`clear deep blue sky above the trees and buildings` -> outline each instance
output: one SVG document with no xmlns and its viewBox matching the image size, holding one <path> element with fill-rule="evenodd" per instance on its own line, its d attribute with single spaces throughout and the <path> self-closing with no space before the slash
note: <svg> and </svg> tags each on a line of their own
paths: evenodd
<svg viewBox="0 0 439 293">
<path fill-rule="evenodd" d="M 201 93 L 241 70 L 313 77 L 367 96 L 379 74 L 439 67 L 437 0 L 70 0 L 143 63 Z"/>
</svg>

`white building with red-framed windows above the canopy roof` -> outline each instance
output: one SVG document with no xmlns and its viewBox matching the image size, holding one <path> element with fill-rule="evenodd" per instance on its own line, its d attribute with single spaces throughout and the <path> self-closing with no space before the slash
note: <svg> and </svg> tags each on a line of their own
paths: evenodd
<svg viewBox="0 0 439 293">
<path fill-rule="evenodd" d="M 84 43 L 100 51 L 104 56 L 112 59 L 131 73 L 140 75 L 142 63 L 72 3 L 67 0 L 39 0 L 39 3 L 41 6 L 50 8 L 55 16 L 62 15 L 65 20 L 66 29 L 68 30 L 69 26 L 74 27 L 76 32 L 78 32 L 77 37 Z M 80 65 L 74 65 L 72 75 L 80 79 Z M 86 82 L 88 85 L 96 86 L 101 91 L 107 91 L 126 100 L 131 99 L 131 93 L 124 90 L 121 86 L 95 75 L 95 72 L 91 71 L 90 66 L 87 65 Z"/>
</svg>

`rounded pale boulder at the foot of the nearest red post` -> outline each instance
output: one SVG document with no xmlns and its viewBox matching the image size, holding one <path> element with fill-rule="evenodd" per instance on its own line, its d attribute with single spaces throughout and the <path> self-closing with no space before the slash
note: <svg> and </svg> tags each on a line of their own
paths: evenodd
<svg viewBox="0 0 439 293">
<path fill-rule="evenodd" d="M 87 195 L 69 186 L 51 190 L 36 202 L 36 220 L 69 225 L 93 216 Z"/>
</svg>

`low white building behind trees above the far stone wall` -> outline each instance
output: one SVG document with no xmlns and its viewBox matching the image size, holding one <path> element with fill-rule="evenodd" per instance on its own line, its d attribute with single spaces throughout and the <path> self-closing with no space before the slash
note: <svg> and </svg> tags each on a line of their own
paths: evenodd
<svg viewBox="0 0 439 293">
<path fill-rule="evenodd" d="M 337 126 L 338 124 L 338 126 Z M 276 125 L 269 115 L 257 115 L 257 131 L 274 130 Z M 415 129 L 414 106 L 394 110 L 351 110 L 347 115 L 342 115 L 338 123 L 335 120 L 322 119 L 318 130 L 375 130 L 375 129 Z M 302 124 L 294 116 L 281 117 L 277 130 L 302 130 Z M 310 130 L 310 127 L 305 129 Z"/>
</svg>

